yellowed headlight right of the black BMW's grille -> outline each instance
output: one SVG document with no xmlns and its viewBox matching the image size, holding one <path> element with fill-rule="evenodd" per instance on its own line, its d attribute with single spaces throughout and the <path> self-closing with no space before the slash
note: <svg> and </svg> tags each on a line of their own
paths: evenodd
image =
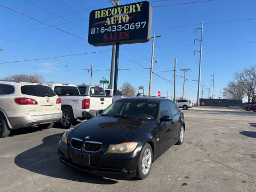
<svg viewBox="0 0 256 192">
<path fill-rule="evenodd" d="M 137 147 L 137 145 L 137 142 L 127 142 L 117 145 L 109 145 L 106 153 L 130 153 Z"/>
</svg>

